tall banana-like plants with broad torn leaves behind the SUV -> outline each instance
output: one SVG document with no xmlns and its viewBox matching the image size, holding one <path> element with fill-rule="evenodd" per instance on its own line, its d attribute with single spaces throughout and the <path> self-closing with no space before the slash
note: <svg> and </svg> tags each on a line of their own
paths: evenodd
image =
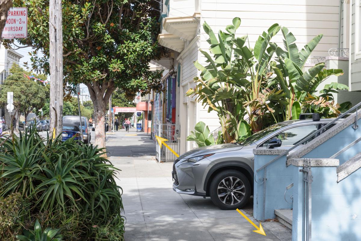
<svg viewBox="0 0 361 241">
<path fill-rule="evenodd" d="M 195 78 L 195 88 L 186 93 L 194 95 L 208 111 L 217 111 L 225 142 L 243 139 L 251 130 L 257 132 L 274 122 L 298 119 L 306 109 L 316 111 L 316 107 L 306 104 L 306 96 L 314 96 L 329 76 L 343 74 L 339 69 L 326 69 L 325 63 L 304 70 L 322 34 L 299 51 L 295 36 L 276 23 L 251 48 L 246 45 L 248 36 L 235 37 L 240 22 L 240 18 L 234 18 L 226 32 L 219 31 L 217 36 L 204 23 L 213 56 L 201 51 L 208 65 L 195 62 L 200 78 Z M 271 41 L 281 29 L 284 48 Z M 337 88 L 332 91 L 337 92 Z M 332 116 L 335 108 L 329 112 L 323 109 L 325 116 Z"/>
</svg>

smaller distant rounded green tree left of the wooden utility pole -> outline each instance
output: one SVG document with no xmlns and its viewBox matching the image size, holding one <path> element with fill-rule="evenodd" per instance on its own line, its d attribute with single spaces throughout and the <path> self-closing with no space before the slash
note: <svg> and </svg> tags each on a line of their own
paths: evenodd
<svg viewBox="0 0 361 241">
<path fill-rule="evenodd" d="M 21 113 L 27 115 L 35 108 L 40 109 L 45 104 L 45 88 L 43 83 L 29 80 L 24 74 L 29 72 L 23 70 L 19 65 L 13 65 L 10 76 L 5 79 L 0 90 L 0 103 L 7 103 L 7 92 L 14 93 L 14 109 L 17 113 L 17 122 Z"/>
</svg>

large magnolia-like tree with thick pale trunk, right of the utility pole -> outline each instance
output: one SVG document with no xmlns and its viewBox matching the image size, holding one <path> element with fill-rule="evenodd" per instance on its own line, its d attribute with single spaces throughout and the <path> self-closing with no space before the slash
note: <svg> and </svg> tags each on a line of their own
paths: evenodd
<svg viewBox="0 0 361 241">
<path fill-rule="evenodd" d="M 104 126 L 110 95 L 121 88 L 127 96 L 158 87 L 160 72 L 149 70 L 160 56 L 154 41 L 159 31 L 159 3 L 151 0 L 63 1 L 64 78 L 84 83 L 94 105 L 97 126 Z M 18 39 L 36 50 L 33 67 L 49 70 L 48 1 L 15 0 L 28 8 L 28 37 Z M 13 43 L 7 40 L 6 43 Z M 36 53 L 42 50 L 44 57 Z M 105 146 L 104 128 L 96 128 L 96 145 Z"/>
</svg>

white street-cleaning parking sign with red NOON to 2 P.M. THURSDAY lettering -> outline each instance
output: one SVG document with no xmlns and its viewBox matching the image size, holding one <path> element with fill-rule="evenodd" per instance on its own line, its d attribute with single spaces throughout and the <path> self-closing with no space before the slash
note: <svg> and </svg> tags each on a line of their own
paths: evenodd
<svg viewBox="0 0 361 241">
<path fill-rule="evenodd" d="M 20 39 L 27 37 L 27 8 L 10 8 L 1 38 Z"/>
</svg>

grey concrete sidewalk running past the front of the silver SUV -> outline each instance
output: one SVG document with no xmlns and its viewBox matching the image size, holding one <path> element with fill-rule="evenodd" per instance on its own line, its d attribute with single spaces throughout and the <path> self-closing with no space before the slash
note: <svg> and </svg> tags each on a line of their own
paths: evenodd
<svg viewBox="0 0 361 241">
<path fill-rule="evenodd" d="M 263 223 L 267 236 L 262 236 L 235 210 L 175 193 L 173 163 L 156 162 L 149 136 L 121 130 L 107 135 L 106 145 L 109 160 L 122 170 L 117 182 L 123 188 L 125 241 L 291 241 L 291 232 L 278 222 Z M 243 210 L 248 216 L 252 202 Z"/>
</svg>

